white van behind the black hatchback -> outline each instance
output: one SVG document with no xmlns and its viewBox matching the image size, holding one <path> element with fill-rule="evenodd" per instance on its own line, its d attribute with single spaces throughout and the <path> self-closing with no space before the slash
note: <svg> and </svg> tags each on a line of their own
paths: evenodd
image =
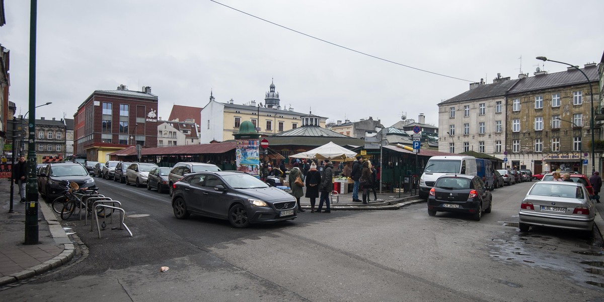
<svg viewBox="0 0 604 302">
<path fill-rule="evenodd" d="M 476 175 L 474 156 L 432 156 L 419 179 L 419 197 L 428 198 L 436 179 L 445 174 Z"/>
</svg>

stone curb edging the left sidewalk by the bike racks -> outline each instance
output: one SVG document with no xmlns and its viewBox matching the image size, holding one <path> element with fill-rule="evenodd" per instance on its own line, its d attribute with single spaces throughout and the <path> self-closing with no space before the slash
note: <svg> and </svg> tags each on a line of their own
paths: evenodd
<svg viewBox="0 0 604 302">
<path fill-rule="evenodd" d="M 5 286 L 7 284 L 15 283 L 17 281 L 23 281 L 28 278 L 34 277 L 35 275 L 50 271 L 51 269 L 56 269 L 59 266 L 62 266 L 71 261 L 71 259 L 73 259 L 74 255 L 76 254 L 76 248 L 74 244 L 71 242 L 71 240 L 65 233 L 65 230 L 63 230 L 63 226 L 61 225 L 61 223 L 57 221 L 53 210 L 51 210 L 51 208 L 48 207 L 46 202 L 43 200 L 39 201 L 38 205 L 40 211 L 42 212 L 42 215 L 44 216 L 44 219 L 48 223 L 48 227 L 50 228 L 50 233 L 53 236 L 54 242 L 57 244 L 62 244 L 63 251 L 59 255 L 56 255 L 52 259 L 47 260 L 39 265 L 32 266 L 31 268 L 24 269 L 21 272 L 16 272 L 14 274 L 0 278 L 0 286 Z"/>
</svg>

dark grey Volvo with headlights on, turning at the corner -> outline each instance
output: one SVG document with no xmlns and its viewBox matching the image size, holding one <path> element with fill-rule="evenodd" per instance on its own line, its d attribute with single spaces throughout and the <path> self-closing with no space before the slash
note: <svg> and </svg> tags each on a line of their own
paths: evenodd
<svg viewBox="0 0 604 302">
<path fill-rule="evenodd" d="M 239 171 L 190 173 L 174 184 L 174 216 L 190 214 L 228 219 L 232 226 L 297 218 L 298 205 L 285 191 Z"/>
</svg>

